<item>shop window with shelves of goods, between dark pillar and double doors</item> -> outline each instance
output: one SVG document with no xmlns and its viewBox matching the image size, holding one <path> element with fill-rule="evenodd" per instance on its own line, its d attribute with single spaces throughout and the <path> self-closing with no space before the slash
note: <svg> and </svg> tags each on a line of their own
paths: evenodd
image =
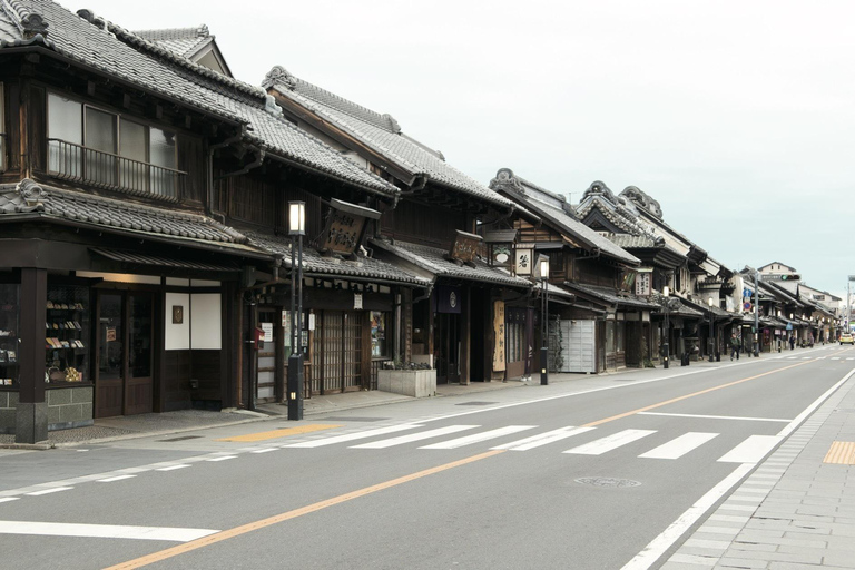
<svg viewBox="0 0 855 570">
<path fill-rule="evenodd" d="M 49 285 L 45 368 L 49 383 L 89 377 L 89 288 Z"/>
</svg>

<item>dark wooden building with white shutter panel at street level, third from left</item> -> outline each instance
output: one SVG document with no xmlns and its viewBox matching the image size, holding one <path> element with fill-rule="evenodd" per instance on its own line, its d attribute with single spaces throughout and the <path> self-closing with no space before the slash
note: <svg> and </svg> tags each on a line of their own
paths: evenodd
<svg viewBox="0 0 855 570">
<path fill-rule="evenodd" d="M 549 257 L 549 283 L 554 287 L 548 295 L 551 366 L 597 373 L 642 365 L 643 338 L 657 306 L 631 286 L 639 259 L 582 224 L 563 196 L 508 168 L 497 173 L 490 187 L 537 216 L 514 222 L 520 233 L 517 255 Z"/>
</svg>

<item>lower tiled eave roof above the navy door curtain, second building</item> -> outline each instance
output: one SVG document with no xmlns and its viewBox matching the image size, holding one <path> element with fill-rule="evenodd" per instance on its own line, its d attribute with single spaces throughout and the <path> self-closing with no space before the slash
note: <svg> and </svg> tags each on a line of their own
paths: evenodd
<svg viewBox="0 0 855 570">
<path fill-rule="evenodd" d="M 445 259 L 445 254 L 448 252 L 438 247 L 429 247 L 406 242 L 395 242 L 392 244 L 385 239 L 372 239 L 371 244 L 436 276 L 494 283 L 498 285 L 510 285 L 523 288 L 530 288 L 532 285 L 530 281 L 523 279 L 522 277 L 515 277 L 505 271 L 490 267 L 481 259 L 474 262 L 474 267 L 470 267 L 469 265 L 458 265 L 454 262 Z"/>
</svg>

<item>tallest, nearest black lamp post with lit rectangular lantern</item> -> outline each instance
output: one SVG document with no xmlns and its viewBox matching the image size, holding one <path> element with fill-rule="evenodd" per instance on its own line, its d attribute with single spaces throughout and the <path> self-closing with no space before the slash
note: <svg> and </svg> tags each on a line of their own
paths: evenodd
<svg viewBox="0 0 855 570">
<path fill-rule="evenodd" d="M 303 419 L 303 236 L 306 235 L 306 203 L 288 203 L 291 236 L 291 346 L 288 356 L 288 420 Z M 296 242 L 297 259 L 294 259 Z"/>
</svg>

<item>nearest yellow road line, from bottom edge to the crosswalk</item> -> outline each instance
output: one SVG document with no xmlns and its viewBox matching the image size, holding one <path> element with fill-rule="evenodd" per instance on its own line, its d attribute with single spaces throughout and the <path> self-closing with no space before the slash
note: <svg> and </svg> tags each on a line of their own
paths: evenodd
<svg viewBox="0 0 855 570">
<path fill-rule="evenodd" d="M 131 568 L 141 568 L 144 566 L 153 564 L 155 562 L 159 562 L 168 558 L 173 558 L 179 554 L 184 554 L 186 552 L 190 552 L 191 550 L 209 547 L 212 544 L 216 544 L 217 542 L 222 542 L 224 540 L 239 537 L 240 534 L 246 534 L 247 532 L 253 532 L 255 530 L 264 529 L 266 527 L 271 527 L 272 524 L 277 524 L 283 521 L 296 519 L 297 517 L 303 517 L 304 514 L 309 514 L 309 513 L 320 511 L 322 509 L 326 509 L 328 507 L 334 507 L 336 504 L 341 504 L 346 501 L 352 501 L 354 499 L 358 499 L 361 497 L 365 497 L 371 493 L 376 493 L 377 491 L 383 491 L 384 489 L 390 489 L 395 485 L 409 483 L 411 481 L 415 481 L 416 479 L 421 479 L 423 476 L 433 475 L 442 471 L 448 471 L 449 469 L 459 468 L 468 463 L 481 461 L 482 459 L 492 458 L 493 455 L 503 453 L 504 451 L 505 450 L 492 450 L 485 453 L 480 453 L 478 455 L 472 455 L 471 458 L 461 459 L 459 461 L 452 461 L 451 463 L 445 463 L 444 465 L 438 465 L 435 468 L 425 469 L 424 471 L 419 471 L 416 473 L 411 473 L 409 475 L 400 476 L 397 479 L 392 479 L 384 483 L 377 483 L 375 485 L 366 487 L 364 489 L 352 491 L 350 493 L 340 494 L 338 497 L 333 497 L 332 499 L 318 501 L 316 503 L 313 503 L 306 507 L 301 507 L 299 509 L 294 509 L 293 511 L 284 512 L 282 514 L 276 514 L 267 519 L 262 519 L 259 521 L 250 522 L 242 527 L 235 527 L 234 529 L 224 530 L 215 534 L 204 537 L 202 539 L 197 539 L 190 542 L 186 542 L 184 544 L 179 544 L 177 547 L 168 548 L 166 550 L 154 552 L 145 557 L 136 558 L 134 560 L 129 560 L 120 564 L 111 566 L 105 570 L 129 570 Z"/>
</svg>

